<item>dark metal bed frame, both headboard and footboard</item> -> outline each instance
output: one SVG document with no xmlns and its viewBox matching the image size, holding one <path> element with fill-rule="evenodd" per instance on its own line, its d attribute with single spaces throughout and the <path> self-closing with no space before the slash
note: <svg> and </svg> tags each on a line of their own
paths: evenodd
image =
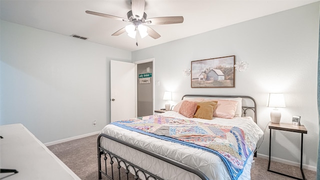
<svg viewBox="0 0 320 180">
<path fill-rule="evenodd" d="M 257 123 L 257 119 L 256 119 L 256 102 L 254 100 L 254 98 L 250 97 L 250 96 L 246 96 L 246 95 L 202 95 L 202 94 L 186 94 L 186 95 L 183 95 L 181 100 L 183 100 L 184 97 L 187 97 L 187 96 L 191 96 L 191 97 L 217 97 L 217 98 L 230 98 L 230 97 L 241 97 L 241 98 L 245 98 L 245 99 L 250 99 L 250 101 L 253 102 L 253 105 L 250 105 L 250 106 L 243 106 L 242 105 L 242 111 L 243 111 L 243 114 L 246 115 L 246 111 L 248 109 L 252 110 L 252 112 L 254 113 L 254 122 Z M 146 170 L 144 170 L 143 168 L 121 158 L 120 156 L 106 150 L 105 148 L 103 148 L 100 144 L 100 141 L 101 141 L 101 138 L 108 138 L 108 139 L 111 139 L 111 140 L 114 140 L 118 143 L 121 143 L 123 145 L 126 145 L 126 146 L 129 146 L 133 149 L 136 149 L 136 150 L 139 150 L 143 153 L 146 153 L 148 155 L 151 155 L 155 158 L 158 158 L 160 160 L 163 160 L 165 162 L 168 162 L 172 165 L 175 165 L 177 167 L 180 167 L 186 171 L 189 171 L 189 172 L 192 172 L 194 174 L 196 174 L 197 176 L 199 176 L 201 179 L 203 180 L 208 180 L 208 177 L 203 173 L 201 172 L 200 170 L 194 168 L 194 167 L 191 167 L 189 165 L 186 165 L 186 164 L 183 164 L 181 162 L 178 162 L 176 160 L 173 160 L 173 159 L 170 159 L 168 157 L 165 157 L 163 155 L 160 155 L 160 154 L 157 154 L 155 152 L 152 152 L 152 151 L 149 151 L 149 150 L 146 150 L 146 149 L 143 149 L 139 146 L 136 146 L 134 144 L 130 144 L 130 143 L 127 143 L 125 141 L 122 141 L 122 140 L 119 140 L 115 137 L 112 137 L 112 136 L 109 136 L 109 135 L 106 135 L 106 134 L 103 134 L 103 133 L 100 133 L 97 137 L 97 158 L 98 158 L 98 178 L 101 179 L 102 178 L 102 174 L 105 175 L 108 179 L 112 179 L 112 180 L 115 180 L 115 179 L 121 179 L 121 167 L 124 168 L 124 172 L 126 173 L 125 176 L 126 176 L 126 179 L 129 179 L 129 172 L 131 170 L 131 173 L 133 174 L 133 178 L 134 179 L 139 179 L 139 176 L 143 176 L 144 179 L 146 180 L 149 180 L 149 179 L 163 179 L 151 172 L 148 172 Z M 254 153 L 254 156 L 256 157 L 256 152 Z M 103 157 L 103 160 L 104 160 L 104 169 L 102 170 L 102 167 L 101 167 L 101 158 Z M 107 171 L 107 159 L 109 158 L 109 163 L 110 163 L 110 166 L 111 166 L 111 169 L 110 169 L 110 172 Z M 117 168 L 117 172 L 115 173 L 113 171 L 113 167 L 115 166 L 115 164 L 113 164 L 114 162 L 117 162 L 117 165 L 116 165 L 116 168 Z M 122 164 L 122 166 L 121 166 Z M 118 176 L 117 176 L 118 175 Z"/>
</svg>

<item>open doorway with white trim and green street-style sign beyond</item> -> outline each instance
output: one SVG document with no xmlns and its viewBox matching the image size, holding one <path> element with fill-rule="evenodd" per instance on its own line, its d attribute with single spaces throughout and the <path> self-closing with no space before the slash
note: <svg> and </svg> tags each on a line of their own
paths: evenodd
<svg viewBox="0 0 320 180">
<path fill-rule="evenodd" d="M 137 116 L 153 114 L 153 59 L 136 61 L 136 110 Z"/>
</svg>

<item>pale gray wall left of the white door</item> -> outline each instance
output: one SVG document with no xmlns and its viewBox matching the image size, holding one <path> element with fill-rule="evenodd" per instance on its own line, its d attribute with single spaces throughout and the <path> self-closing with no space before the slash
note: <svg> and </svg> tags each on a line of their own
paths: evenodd
<svg viewBox="0 0 320 180">
<path fill-rule="evenodd" d="M 109 60 L 131 61 L 131 52 L 3 20 L 0 26 L 1 125 L 22 123 L 45 143 L 110 121 Z"/>
</svg>

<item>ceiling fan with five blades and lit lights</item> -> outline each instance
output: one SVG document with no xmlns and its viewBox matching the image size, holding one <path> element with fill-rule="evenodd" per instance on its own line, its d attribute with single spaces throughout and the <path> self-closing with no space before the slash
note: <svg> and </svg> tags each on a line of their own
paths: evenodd
<svg viewBox="0 0 320 180">
<path fill-rule="evenodd" d="M 132 0 L 131 1 L 131 10 L 129 10 L 126 15 L 126 18 L 117 17 L 114 15 L 93 12 L 90 10 L 86 10 L 85 12 L 92 15 L 98 15 L 102 17 L 112 18 L 116 20 L 122 20 L 125 22 L 130 22 L 129 25 L 119 29 L 114 32 L 112 35 L 120 35 L 124 32 L 127 32 L 128 35 L 132 38 L 136 38 L 136 32 L 138 31 L 141 38 L 149 35 L 150 37 L 157 39 L 161 35 L 158 34 L 155 30 L 153 30 L 148 25 L 159 25 L 159 24 L 173 24 L 173 23 L 182 23 L 183 16 L 166 16 L 166 17 L 153 17 L 146 18 L 146 13 L 144 12 L 144 4 L 145 0 Z M 136 43 L 137 45 L 137 43 Z"/>
</svg>

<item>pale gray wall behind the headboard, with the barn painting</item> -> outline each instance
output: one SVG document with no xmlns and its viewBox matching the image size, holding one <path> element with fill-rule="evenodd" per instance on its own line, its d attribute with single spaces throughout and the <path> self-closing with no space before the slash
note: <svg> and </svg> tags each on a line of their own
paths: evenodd
<svg viewBox="0 0 320 180">
<path fill-rule="evenodd" d="M 214 22 L 210 22 L 214 23 Z M 159 32 L 160 33 L 160 32 Z M 281 122 L 291 123 L 300 115 L 308 132 L 304 137 L 303 164 L 314 169 L 317 157 L 318 115 L 316 103 L 319 2 L 237 23 L 198 35 L 132 52 L 132 60 L 154 57 L 155 109 L 164 106 L 165 90 L 177 103 L 183 94 L 250 95 L 257 101 L 257 120 L 264 130 L 270 121 L 266 107 L 269 92 L 283 92 L 286 107 Z M 191 88 L 190 76 L 183 75 L 192 60 L 235 55 L 249 68 L 235 72 L 234 88 Z M 174 104 L 174 103 L 171 104 Z M 274 131 L 272 156 L 285 163 L 299 162 L 300 134 Z M 258 149 L 268 155 L 269 130 Z"/>
</svg>

